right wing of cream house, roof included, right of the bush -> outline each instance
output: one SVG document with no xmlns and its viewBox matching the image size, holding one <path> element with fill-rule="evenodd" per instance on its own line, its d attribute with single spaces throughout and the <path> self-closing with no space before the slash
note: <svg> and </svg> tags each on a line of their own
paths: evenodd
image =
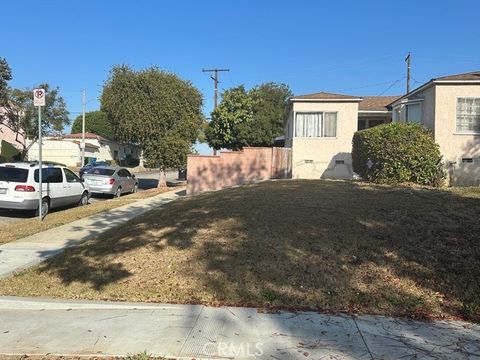
<svg viewBox="0 0 480 360">
<path fill-rule="evenodd" d="M 480 71 L 432 79 L 391 103 L 393 121 L 432 129 L 454 185 L 480 185 Z"/>
</svg>

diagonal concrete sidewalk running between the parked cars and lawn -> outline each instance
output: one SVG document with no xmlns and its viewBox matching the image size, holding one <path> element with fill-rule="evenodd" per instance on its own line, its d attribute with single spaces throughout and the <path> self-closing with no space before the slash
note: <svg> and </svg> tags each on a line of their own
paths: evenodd
<svg viewBox="0 0 480 360">
<path fill-rule="evenodd" d="M 141 199 L 0 246 L 0 278 L 34 266 L 68 247 L 92 239 L 185 193 L 184 188 Z"/>
</svg>

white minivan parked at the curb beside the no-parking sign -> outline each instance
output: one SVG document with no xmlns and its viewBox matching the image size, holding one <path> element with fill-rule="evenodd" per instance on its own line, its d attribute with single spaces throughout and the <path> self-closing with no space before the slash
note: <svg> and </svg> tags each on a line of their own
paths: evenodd
<svg viewBox="0 0 480 360">
<path fill-rule="evenodd" d="M 0 208 L 39 212 L 38 162 L 0 164 Z M 42 164 L 42 215 L 52 208 L 86 205 L 90 192 L 70 169 Z"/>
</svg>

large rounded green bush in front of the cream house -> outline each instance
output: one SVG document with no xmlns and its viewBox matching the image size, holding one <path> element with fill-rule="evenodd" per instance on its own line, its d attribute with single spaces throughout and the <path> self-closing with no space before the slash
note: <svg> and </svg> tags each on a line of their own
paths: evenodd
<svg viewBox="0 0 480 360">
<path fill-rule="evenodd" d="M 445 178 L 439 146 L 422 125 L 390 123 L 357 131 L 352 145 L 353 171 L 367 181 L 439 186 Z"/>
</svg>

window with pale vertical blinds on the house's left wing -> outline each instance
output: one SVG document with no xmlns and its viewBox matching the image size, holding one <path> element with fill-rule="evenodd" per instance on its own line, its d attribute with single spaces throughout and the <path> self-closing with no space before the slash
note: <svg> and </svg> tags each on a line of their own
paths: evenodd
<svg viewBox="0 0 480 360">
<path fill-rule="evenodd" d="M 337 113 L 297 113 L 295 137 L 336 137 Z"/>
</svg>

